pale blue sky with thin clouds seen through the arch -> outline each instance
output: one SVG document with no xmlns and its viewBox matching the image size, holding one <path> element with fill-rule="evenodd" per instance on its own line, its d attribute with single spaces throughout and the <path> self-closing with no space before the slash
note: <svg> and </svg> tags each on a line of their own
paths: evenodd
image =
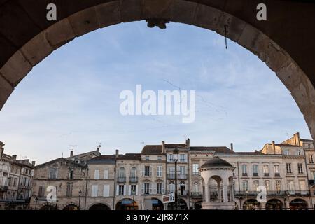
<svg viewBox="0 0 315 224">
<path fill-rule="evenodd" d="M 123 116 L 120 92 L 195 90 L 196 118 Z M 62 46 L 22 80 L 0 111 L 5 153 L 41 164 L 93 151 L 140 153 L 145 144 L 183 143 L 259 150 L 295 132 L 309 139 L 302 113 L 276 74 L 213 31 L 129 22 Z"/>
</svg>

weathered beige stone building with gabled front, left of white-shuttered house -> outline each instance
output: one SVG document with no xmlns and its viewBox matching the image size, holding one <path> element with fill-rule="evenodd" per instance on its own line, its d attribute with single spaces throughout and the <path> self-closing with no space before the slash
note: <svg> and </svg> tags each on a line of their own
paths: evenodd
<svg viewBox="0 0 315 224">
<path fill-rule="evenodd" d="M 99 155 L 99 148 L 79 155 L 73 155 L 71 151 L 68 158 L 57 158 L 37 165 L 34 169 L 31 209 L 76 210 L 82 207 L 81 197 L 88 195 L 85 185 L 87 161 Z"/>
</svg>

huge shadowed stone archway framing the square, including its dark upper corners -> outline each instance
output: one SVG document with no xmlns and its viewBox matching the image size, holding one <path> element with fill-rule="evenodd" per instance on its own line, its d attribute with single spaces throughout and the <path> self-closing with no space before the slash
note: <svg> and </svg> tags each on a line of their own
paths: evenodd
<svg viewBox="0 0 315 224">
<path fill-rule="evenodd" d="M 33 0 L 31 0 L 33 1 Z M 48 3 L 56 3 L 57 22 L 45 20 Z M 315 8 L 307 3 L 266 0 L 268 20 L 256 19 L 258 1 L 99 0 L 73 3 L 6 1 L 0 6 L 0 109 L 32 67 L 73 38 L 120 22 L 155 20 L 195 25 L 258 55 L 291 92 L 315 139 Z M 288 7 L 290 4 L 291 7 Z M 245 7 L 246 6 L 246 7 Z M 290 10 L 288 10 L 290 8 Z M 276 10 L 277 9 L 277 10 Z M 280 13 L 281 12 L 281 13 Z M 292 15 L 295 15 L 292 17 Z M 299 16 L 300 15 L 300 16 Z M 307 20 L 306 17 L 310 18 Z M 307 22 L 304 22 L 307 21 Z M 279 30 L 286 30 L 281 35 Z M 309 41 L 308 41 L 309 40 Z M 298 44 L 297 44 L 298 43 Z"/>
</svg>

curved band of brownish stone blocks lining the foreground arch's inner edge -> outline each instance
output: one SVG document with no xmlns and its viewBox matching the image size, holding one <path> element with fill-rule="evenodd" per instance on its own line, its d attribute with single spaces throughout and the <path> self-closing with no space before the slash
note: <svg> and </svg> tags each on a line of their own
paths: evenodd
<svg viewBox="0 0 315 224">
<path fill-rule="evenodd" d="M 246 2 L 248 7 L 250 5 L 248 1 L 238 1 Z M 69 8 L 69 15 L 65 14 L 62 20 L 53 25 L 50 25 L 51 22 L 45 21 L 44 25 L 39 26 L 43 29 L 38 29 L 36 35 L 28 38 L 28 41 L 25 41 L 25 44 L 18 48 L 3 64 L 0 69 L 0 109 L 33 66 L 36 66 L 52 51 L 73 40 L 73 38 L 121 22 L 148 19 L 161 21 L 162 19 L 195 25 L 216 31 L 223 36 L 225 36 L 226 27 L 227 38 L 257 55 L 288 88 L 303 113 L 314 139 L 315 89 L 309 80 L 310 76 L 302 71 L 286 50 L 260 29 L 254 27 L 257 21 L 246 22 L 245 19 L 241 20 L 228 13 L 232 11 L 228 7 L 233 6 L 233 3 L 230 3 L 232 1 L 225 1 L 224 7 L 220 3 L 217 3 L 216 6 L 211 0 L 207 2 L 208 5 L 193 0 L 120 0 L 106 1 L 106 3 L 98 5 L 96 3 L 83 3 L 77 11 Z M 44 3 L 45 1 L 41 4 Z M 254 6 L 254 3 L 251 4 Z"/>
</svg>

